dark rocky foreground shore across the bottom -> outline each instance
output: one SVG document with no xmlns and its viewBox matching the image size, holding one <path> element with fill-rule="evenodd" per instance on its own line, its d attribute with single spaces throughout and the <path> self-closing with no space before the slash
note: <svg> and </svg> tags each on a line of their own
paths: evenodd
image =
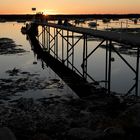
<svg viewBox="0 0 140 140">
<path fill-rule="evenodd" d="M 93 97 L 69 100 L 20 98 L 0 104 L 0 127 L 9 128 L 17 140 L 140 139 L 138 101 L 119 102 L 110 95 Z"/>
</svg>

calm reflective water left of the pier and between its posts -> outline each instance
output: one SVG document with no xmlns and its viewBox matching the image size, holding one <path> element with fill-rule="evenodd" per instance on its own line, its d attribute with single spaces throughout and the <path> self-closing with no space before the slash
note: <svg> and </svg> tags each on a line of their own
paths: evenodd
<svg viewBox="0 0 140 140">
<path fill-rule="evenodd" d="M 100 23 L 101 21 L 99 21 Z M 104 29 L 106 24 L 100 23 L 99 26 L 101 29 Z M 116 25 L 116 24 L 115 24 Z M 38 74 L 38 82 L 41 82 L 44 79 L 47 82 L 50 82 L 52 79 L 58 79 L 60 83 L 64 86 L 63 88 L 58 88 L 58 83 L 54 83 L 50 88 L 46 87 L 42 90 L 33 90 L 29 89 L 24 92 L 17 92 L 16 96 L 13 96 L 13 99 L 23 97 L 33 97 L 33 98 L 43 98 L 50 96 L 73 96 L 74 92 L 67 86 L 63 80 L 57 76 L 49 67 L 47 67 L 43 62 L 37 60 L 34 56 L 33 51 L 31 50 L 31 45 L 26 39 L 25 35 L 22 35 L 20 32 L 22 23 L 16 22 L 7 22 L 0 23 L 0 38 L 7 37 L 14 40 L 15 44 L 21 45 L 20 48 L 26 50 L 25 53 L 19 54 L 8 54 L 0 55 L 0 78 L 9 78 L 9 75 L 6 73 L 7 70 L 13 70 L 14 68 L 20 69 L 22 72 L 29 72 L 30 74 Z M 82 26 L 87 27 L 87 23 Z M 114 25 L 109 25 L 114 26 Z M 120 26 L 120 24 L 119 24 Z M 135 26 L 134 26 L 135 27 Z M 53 32 L 53 30 L 52 30 Z M 66 33 L 65 33 L 66 34 Z M 59 40 L 61 38 L 59 37 Z M 76 39 L 75 39 L 76 41 Z M 88 41 L 88 53 L 91 52 L 100 41 Z M 61 46 L 61 41 L 59 41 L 59 46 Z M 79 71 L 82 72 L 82 49 L 83 41 L 81 40 L 75 47 L 75 61 L 74 65 Z M 82 48 L 82 49 L 81 49 Z M 61 56 L 61 47 L 59 48 L 59 55 Z M 127 54 L 122 54 L 123 57 L 130 62 L 132 66 L 135 67 L 136 57 L 130 56 Z M 111 79 L 111 90 L 119 93 L 126 93 L 127 90 L 134 84 L 134 74 L 133 72 L 125 65 L 125 63 L 115 54 L 112 53 L 112 57 L 115 59 L 112 62 L 112 79 Z M 42 68 L 44 66 L 44 69 Z M 88 73 L 94 77 L 95 80 L 101 81 L 105 77 L 105 50 L 103 48 L 97 49 L 96 53 L 88 59 Z M 140 77 L 140 76 L 139 76 Z M 89 80 L 89 82 L 92 82 Z M 104 84 L 101 84 L 104 86 Z M 140 88 L 140 82 L 139 82 Z M 140 91 L 140 90 L 139 90 Z"/>
</svg>

